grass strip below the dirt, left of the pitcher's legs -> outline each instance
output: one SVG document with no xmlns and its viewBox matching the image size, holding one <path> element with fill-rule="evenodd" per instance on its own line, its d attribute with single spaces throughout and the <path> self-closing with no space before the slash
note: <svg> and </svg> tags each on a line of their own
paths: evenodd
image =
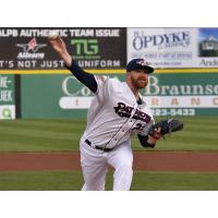
<svg viewBox="0 0 218 218">
<path fill-rule="evenodd" d="M 76 191 L 82 185 L 81 171 L 0 172 L 1 191 Z"/>
</svg>

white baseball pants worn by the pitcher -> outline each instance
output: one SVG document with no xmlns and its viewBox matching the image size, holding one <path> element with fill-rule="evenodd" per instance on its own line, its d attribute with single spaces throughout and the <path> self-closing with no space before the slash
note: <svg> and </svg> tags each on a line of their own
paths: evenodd
<svg viewBox="0 0 218 218">
<path fill-rule="evenodd" d="M 108 165 L 114 168 L 113 191 L 131 187 L 133 153 L 129 142 L 111 152 L 102 152 L 81 141 L 81 166 L 84 177 L 83 191 L 104 191 Z"/>
</svg>

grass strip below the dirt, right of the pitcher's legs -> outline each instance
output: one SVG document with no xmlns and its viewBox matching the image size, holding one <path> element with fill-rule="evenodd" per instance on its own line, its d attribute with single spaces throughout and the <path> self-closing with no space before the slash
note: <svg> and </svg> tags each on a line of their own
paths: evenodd
<svg viewBox="0 0 218 218">
<path fill-rule="evenodd" d="M 135 172 L 136 191 L 217 191 L 217 172 Z"/>
</svg>

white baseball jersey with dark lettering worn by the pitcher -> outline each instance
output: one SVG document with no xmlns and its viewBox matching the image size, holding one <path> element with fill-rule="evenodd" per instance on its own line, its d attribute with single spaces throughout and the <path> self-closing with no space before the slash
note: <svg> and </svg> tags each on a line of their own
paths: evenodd
<svg viewBox="0 0 218 218">
<path fill-rule="evenodd" d="M 112 148 L 135 134 L 146 135 L 154 123 L 152 111 L 136 99 L 125 82 L 108 76 L 95 76 L 98 89 L 87 113 L 87 126 L 82 138 Z"/>
</svg>

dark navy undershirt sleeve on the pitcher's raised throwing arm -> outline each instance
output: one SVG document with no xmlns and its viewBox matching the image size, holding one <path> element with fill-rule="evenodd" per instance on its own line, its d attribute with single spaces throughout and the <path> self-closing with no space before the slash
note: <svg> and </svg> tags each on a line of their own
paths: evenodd
<svg viewBox="0 0 218 218">
<path fill-rule="evenodd" d="M 78 64 L 72 60 L 70 66 L 66 66 L 71 73 L 85 86 L 87 86 L 93 93 L 97 92 L 97 82 L 95 76 L 92 73 L 85 72 L 83 69 L 78 66 Z"/>
</svg>

